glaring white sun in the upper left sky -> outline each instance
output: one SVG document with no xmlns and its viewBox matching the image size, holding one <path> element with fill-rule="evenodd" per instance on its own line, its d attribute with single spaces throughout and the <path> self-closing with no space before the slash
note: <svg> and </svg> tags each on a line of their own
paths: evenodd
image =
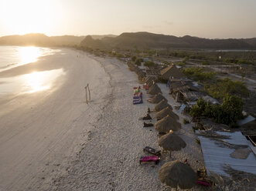
<svg viewBox="0 0 256 191">
<path fill-rule="evenodd" d="M 5 1 L 1 14 L 3 25 L 13 34 L 47 33 L 53 27 L 54 20 L 49 3 L 38 0 Z"/>
</svg>

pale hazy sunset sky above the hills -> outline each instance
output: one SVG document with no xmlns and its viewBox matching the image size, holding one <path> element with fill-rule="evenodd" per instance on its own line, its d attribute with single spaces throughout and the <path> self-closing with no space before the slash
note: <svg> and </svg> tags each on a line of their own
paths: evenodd
<svg viewBox="0 0 256 191">
<path fill-rule="evenodd" d="M 256 0 L 0 0 L 0 36 L 139 31 L 256 37 Z"/>
</svg>

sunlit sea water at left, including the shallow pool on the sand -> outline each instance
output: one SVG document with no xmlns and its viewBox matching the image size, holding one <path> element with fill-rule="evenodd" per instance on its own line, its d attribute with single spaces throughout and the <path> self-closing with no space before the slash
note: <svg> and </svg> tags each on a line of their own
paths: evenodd
<svg viewBox="0 0 256 191">
<path fill-rule="evenodd" d="M 61 52 L 60 49 L 49 49 L 34 46 L 0 46 L 0 96 L 6 94 L 34 93 L 51 88 L 51 83 L 63 74 L 63 69 L 43 72 L 32 72 L 23 75 L 3 77 L 2 73 L 16 67 L 39 61 L 47 55 Z"/>
</svg>

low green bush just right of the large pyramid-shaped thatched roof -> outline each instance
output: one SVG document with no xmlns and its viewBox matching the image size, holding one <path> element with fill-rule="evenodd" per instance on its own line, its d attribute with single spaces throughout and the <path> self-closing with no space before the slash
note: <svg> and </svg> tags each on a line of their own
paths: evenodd
<svg viewBox="0 0 256 191">
<path fill-rule="evenodd" d="M 216 75 L 216 72 L 203 72 L 202 68 L 189 68 L 183 69 L 183 73 L 196 81 L 204 81 L 208 79 L 213 79 Z"/>
</svg>

